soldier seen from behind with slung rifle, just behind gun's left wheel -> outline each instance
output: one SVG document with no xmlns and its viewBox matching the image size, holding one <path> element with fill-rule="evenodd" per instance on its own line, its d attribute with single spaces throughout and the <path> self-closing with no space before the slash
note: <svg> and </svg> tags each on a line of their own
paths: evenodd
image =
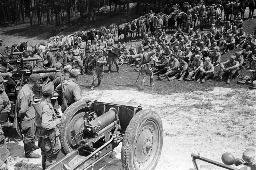
<svg viewBox="0 0 256 170">
<path fill-rule="evenodd" d="M 70 71 L 70 79 L 63 81 L 64 96 L 62 96 L 61 84 L 59 84 L 55 89 L 59 96 L 63 98 L 63 100 L 64 98 L 66 99 L 68 106 L 81 99 L 80 88 L 77 82 L 79 74 L 80 70 L 74 68 Z M 64 111 L 67 109 L 64 103 L 61 105 L 62 113 L 64 113 Z"/>
</svg>

